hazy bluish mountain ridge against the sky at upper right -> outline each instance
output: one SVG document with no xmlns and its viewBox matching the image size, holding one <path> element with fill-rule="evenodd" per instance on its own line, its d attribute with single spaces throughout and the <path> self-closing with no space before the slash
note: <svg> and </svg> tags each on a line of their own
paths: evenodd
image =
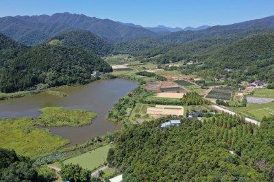
<svg viewBox="0 0 274 182">
<path fill-rule="evenodd" d="M 177 42 L 186 43 L 199 39 L 214 38 L 216 36 L 228 36 L 237 34 L 242 31 L 251 29 L 262 29 L 262 28 L 273 28 L 274 27 L 274 16 L 261 18 L 253 21 L 246 21 L 242 23 L 235 23 L 232 25 L 219 25 L 209 27 L 208 29 L 202 29 L 199 31 L 177 31 L 172 34 L 160 37 L 165 43 Z"/>
</svg>

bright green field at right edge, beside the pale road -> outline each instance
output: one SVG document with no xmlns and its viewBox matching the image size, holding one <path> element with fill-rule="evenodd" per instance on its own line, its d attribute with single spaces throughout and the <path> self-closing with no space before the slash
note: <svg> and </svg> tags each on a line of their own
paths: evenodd
<svg viewBox="0 0 274 182">
<path fill-rule="evenodd" d="M 229 109 L 260 121 L 264 116 L 273 116 L 274 103 L 248 103 L 247 107 L 229 107 Z"/>
</svg>

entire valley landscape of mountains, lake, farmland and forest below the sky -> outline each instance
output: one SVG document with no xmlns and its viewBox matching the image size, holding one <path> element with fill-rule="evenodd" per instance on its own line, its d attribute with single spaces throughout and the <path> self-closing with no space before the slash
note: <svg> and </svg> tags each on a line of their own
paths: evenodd
<svg viewBox="0 0 274 182">
<path fill-rule="evenodd" d="M 274 16 L 171 29 L 66 12 L 0 32 L 0 181 L 273 181 Z"/>
</svg>

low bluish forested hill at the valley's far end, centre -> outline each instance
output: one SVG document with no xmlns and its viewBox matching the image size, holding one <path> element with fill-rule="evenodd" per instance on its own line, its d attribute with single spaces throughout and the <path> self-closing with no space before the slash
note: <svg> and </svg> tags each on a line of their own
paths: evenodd
<svg viewBox="0 0 274 182">
<path fill-rule="evenodd" d="M 114 53 L 135 53 L 160 46 L 162 43 L 155 38 L 136 38 L 114 44 Z"/>
</svg>

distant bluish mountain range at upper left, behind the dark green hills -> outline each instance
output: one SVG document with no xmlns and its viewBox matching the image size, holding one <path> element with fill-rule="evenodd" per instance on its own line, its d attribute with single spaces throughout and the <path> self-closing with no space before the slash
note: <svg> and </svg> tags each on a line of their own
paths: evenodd
<svg viewBox="0 0 274 182">
<path fill-rule="evenodd" d="M 7 16 L 0 18 L 0 32 L 23 44 L 34 45 L 62 31 L 82 29 L 91 31 L 110 42 L 140 37 L 158 36 L 142 27 L 125 26 L 109 19 L 83 14 L 57 13 L 52 16 Z"/>
</svg>

